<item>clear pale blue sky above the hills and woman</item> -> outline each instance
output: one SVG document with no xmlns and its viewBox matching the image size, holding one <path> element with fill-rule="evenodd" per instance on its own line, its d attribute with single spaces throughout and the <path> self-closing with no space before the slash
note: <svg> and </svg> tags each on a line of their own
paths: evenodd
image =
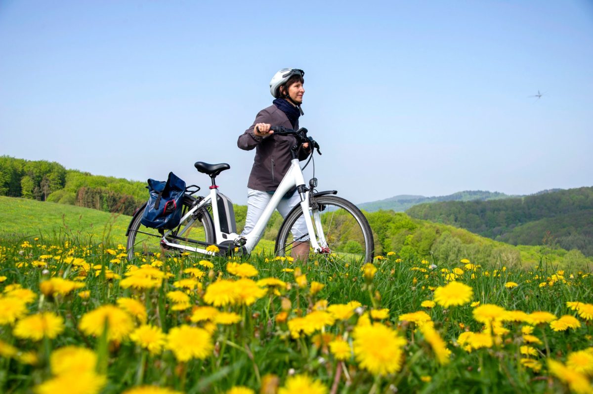
<svg viewBox="0 0 593 394">
<path fill-rule="evenodd" d="M 284 67 L 355 203 L 593 185 L 591 1 L 0 0 L 0 155 L 203 186 L 228 162 L 245 203 L 237 137 Z"/>
</svg>

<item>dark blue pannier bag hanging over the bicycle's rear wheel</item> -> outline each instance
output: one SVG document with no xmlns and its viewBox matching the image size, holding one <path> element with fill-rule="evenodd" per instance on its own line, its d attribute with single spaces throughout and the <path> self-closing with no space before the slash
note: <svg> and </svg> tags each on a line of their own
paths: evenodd
<svg viewBox="0 0 593 394">
<path fill-rule="evenodd" d="M 147 187 L 150 197 L 141 223 L 154 229 L 176 228 L 181 220 L 185 182 L 173 172 L 169 172 L 166 182 L 149 179 Z"/>
</svg>

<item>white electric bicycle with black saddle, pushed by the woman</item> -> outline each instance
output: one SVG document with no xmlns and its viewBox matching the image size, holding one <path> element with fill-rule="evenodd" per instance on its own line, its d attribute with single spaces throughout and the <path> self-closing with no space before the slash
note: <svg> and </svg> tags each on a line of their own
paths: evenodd
<svg viewBox="0 0 593 394">
<path fill-rule="evenodd" d="M 305 128 L 295 132 L 282 126 L 273 126 L 272 130 L 279 135 L 294 136 L 297 143 L 291 148 L 291 167 L 250 233 L 243 236 L 237 233 L 231 200 L 220 193 L 216 185 L 216 176 L 230 166 L 226 163 L 196 162 L 194 166 L 197 171 L 211 178 L 212 185 L 209 187 L 208 196 L 194 197 L 193 194 L 200 188 L 196 185 L 188 187 L 183 199 L 180 224 L 172 230 L 157 230 L 142 226 L 142 213 L 146 207 L 144 204 L 136 211 L 126 231 L 128 260 L 142 255 L 155 255 L 159 252 L 177 255 L 183 252 L 215 255 L 213 248 L 208 248 L 211 245 L 216 245 L 219 254 L 248 254 L 262 238 L 267 222 L 278 206 L 280 198 L 289 190 L 296 188 L 301 197 L 301 203 L 289 212 L 280 226 L 275 243 L 276 255 L 289 256 L 295 242 L 309 241 L 315 257 L 325 257 L 336 264 L 346 261 L 355 263 L 372 261 L 374 240 L 364 214 L 354 204 L 335 196 L 336 190 L 315 191 L 317 178 L 311 178 L 309 187 L 305 186 L 302 169 L 313 158 L 315 149 L 321 155 L 318 143 L 307 136 L 308 131 Z M 298 151 L 305 142 L 309 143 L 311 153 L 301 169 Z M 293 236 L 291 241 L 289 233 L 301 217 L 305 220 L 308 233 L 298 238 Z"/>
</svg>

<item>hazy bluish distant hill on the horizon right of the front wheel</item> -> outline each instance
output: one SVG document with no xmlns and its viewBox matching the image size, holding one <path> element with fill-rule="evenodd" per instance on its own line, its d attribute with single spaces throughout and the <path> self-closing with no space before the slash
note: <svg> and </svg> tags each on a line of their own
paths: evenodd
<svg viewBox="0 0 593 394">
<path fill-rule="evenodd" d="M 440 201 L 486 201 L 511 197 L 514 196 L 508 196 L 507 194 L 499 193 L 498 191 L 491 192 L 482 190 L 466 190 L 458 191 L 457 193 L 449 194 L 448 196 L 436 197 L 410 196 L 408 194 L 401 194 L 400 196 L 385 198 L 384 200 L 356 204 L 356 206 L 358 206 L 359 209 L 364 209 L 366 212 L 375 212 L 380 209 L 393 210 L 394 212 L 405 212 L 410 207 L 424 203 L 438 203 Z"/>
</svg>

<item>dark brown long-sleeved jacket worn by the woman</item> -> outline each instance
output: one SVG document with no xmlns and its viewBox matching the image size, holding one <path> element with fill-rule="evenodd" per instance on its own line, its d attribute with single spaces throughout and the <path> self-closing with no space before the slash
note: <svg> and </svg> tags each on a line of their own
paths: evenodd
<svg viewBox="0 0 593 394">
<path fill-rule="evenodd" d="M 291 166 L 290 150 L 297 140 L 291 136 L 276 134 L 265 138 L 256 136 L 253 134 L 253 129 L 257 123 L 284 126 L 287 129 L 292 129 L 292 124 L 286 114 L 272 104 L 259 111 L 251 127 L 245 130 L 245 133 L 241 134 L 237 140 L 237 146 L 241 149 L 256 148 L 256 157 L 253 160 L 247 187 L 261 191 L 276 190 Z M 298 130 L 298 120 L 294 130 Z M 307 153 L 301 151 L 299 159 L 304 160 L 305 158 L 307 158 Z"/>
</svg>

